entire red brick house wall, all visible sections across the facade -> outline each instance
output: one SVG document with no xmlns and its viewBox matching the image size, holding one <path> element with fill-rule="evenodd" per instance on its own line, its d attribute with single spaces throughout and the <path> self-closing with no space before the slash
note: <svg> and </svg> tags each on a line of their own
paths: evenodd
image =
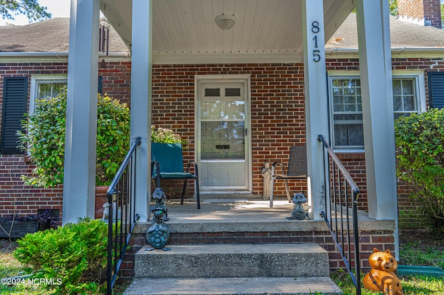
<svg viewBox="0 0 444 295">
<path fill-rule="evenodd" d="M 433 58 L 393 58 L 394 70 L 423 70 L 425 73 L 443 70 L 444 62 Z M 328 59 L 327 70 L 357 71 L 358 59 Z M 67 73 L 67 63 L 10 63 L 0 64 L 0 109 L 3 99 L 3 78 L 12 75 Z M 106 69 L 99 69 L 103 76 L 103 91 L 123 102 L 130 99 L 130 62 L 107 62 Z M 195 64 L 195 65 L 155 65 L 153 66 L 153 125 L 167 127 L 178 132 L 188 142 L 184 160 L 194 159 L 194 77 L 195 75 L 248 74 L 251 80 L 251 138 L 253 150 L 253 196 L 262 195 L 261 175 L 265 161 L 287 163 L 290 146 L 305 142 L 305 106 L 302 64 Z M 425 75 L 427 87 L 427 75 Z M 427 89 L 426 89 L 427 91 Z M 426 92 L 427 94 L 427 92 Z M 0 113 L 1 116 L 1 113 Z M 0 117 L 1 120 L 1 117 Z M 40 205 L 61 208 L 62 191 L 34 191 L 22 187 L 19 176 L 31 172 L 32 167 L 24 162 L 23 154 L 0 155 L 0 216 L 12 213 L 10 205 L 13 193 L 10 188 L 9 167 L 15 167 L 12 183 L 15 184 L 19 202 L 23 202 L 20 213 L 37 213 Z M 366 179 L 364 153 L 339 154 L 350 174 L 361 190 L 359 208 L 366 206 Z M 191 184 L 191 183 L 190 183 Z M 305 181 L 291 181 L 291 190 L 306 191 Z M 168 184 L 167 184 L 168 185 Z M 180 196 L 180 186 L 169 184 L 173 197 Z M 276 184 L 276 195 L 285 195 L 282 181 Z M 191 193 L 191 189 L 188 193 Z M 31 193 L 32 192 L 32 193 Z M 408 198 L 408 190 L 400 188 L 400 211 L 415 216 L 422 214 L 418 204 Z M 46 199 L 45 199 L 46 198 Z M 49 199 L 48 199 L 49 198 Z M 46 202 L 40 204 L 39 202 Z M 39 207 L 40 208 L 40 207 Z M 408 216 L 408 215 L 403 215 Z M 400 216 L 400 224 L 409 220 Z"/>
</svg>

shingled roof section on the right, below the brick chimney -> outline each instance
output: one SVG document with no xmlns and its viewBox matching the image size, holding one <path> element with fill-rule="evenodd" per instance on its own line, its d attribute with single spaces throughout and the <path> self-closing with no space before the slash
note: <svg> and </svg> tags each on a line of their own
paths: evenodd
<svg viewBox="0 0 444 295">
<path fill-rule="evenodd" d="M 391 48 L 430 48 L 444 46 L 444 30 L 420 26 L 390 16 Z M 356 13 L 350 13 L 325 48 L 358 48 Z"/>
</svg>

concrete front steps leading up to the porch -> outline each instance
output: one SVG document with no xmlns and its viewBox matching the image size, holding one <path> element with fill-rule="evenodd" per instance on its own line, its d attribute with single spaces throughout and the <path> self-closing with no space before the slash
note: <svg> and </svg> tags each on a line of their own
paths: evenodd
<svg viewBox="0 0 444 295">
<path fill-rule="evenodd" d="M 124 294 L 340 294 L 317 244 L 172 244 L 135 257 Z"/>
</svg>

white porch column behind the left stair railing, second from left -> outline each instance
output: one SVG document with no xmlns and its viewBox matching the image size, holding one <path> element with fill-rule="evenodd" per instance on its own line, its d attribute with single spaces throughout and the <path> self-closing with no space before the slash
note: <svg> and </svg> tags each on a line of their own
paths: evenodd
<svg viewBox="0 0 444 295">
<path fill-rule="evenodd" d="M 135 176 L 135 208 L 141 222 L 146 222 L 150 213 L 152 16 L 152 0 L 133 0 L 131 140 L 142 138 L 137 147 Z"/>
</svg>

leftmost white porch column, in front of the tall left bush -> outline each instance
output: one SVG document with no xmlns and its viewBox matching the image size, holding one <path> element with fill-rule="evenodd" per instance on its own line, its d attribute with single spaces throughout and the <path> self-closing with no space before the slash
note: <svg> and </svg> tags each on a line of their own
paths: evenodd
<svg viewBox="0 0 444 295">
<path fill-rule="evenodd" d="M 99 0 L 71 0 L 62 223 L 94 218 Z"/>
</svg>

